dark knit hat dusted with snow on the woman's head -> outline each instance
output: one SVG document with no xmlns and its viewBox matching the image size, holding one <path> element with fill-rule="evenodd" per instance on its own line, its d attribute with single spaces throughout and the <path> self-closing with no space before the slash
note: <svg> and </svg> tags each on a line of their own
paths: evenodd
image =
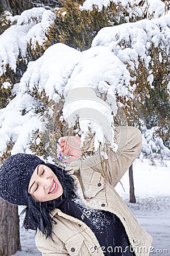
<svg viewBox="0 0 170 256">
<path fill-rule="evenodd" d="M 0 197 L 16 205 L 28 205 L 28 185 L 33 171 L 45 164 L 36 155 L 16 154 L 0 168 Z"/>
</svg>

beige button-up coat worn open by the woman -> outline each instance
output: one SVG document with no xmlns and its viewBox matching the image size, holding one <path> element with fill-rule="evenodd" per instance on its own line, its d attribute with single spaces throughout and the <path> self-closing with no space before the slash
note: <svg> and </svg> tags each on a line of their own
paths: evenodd
<svg viewBox="0 0 170 256">
<path fill-rule="evenodd" d="M 117 153 L 108 150 L 107 169 L 101 167 L 99 155 L 90 156 L 84 160 L 76 160 L 69 164 L 67 170 L 76 182 L 76 194 L 80 201 L 88 208 L 107 210 L 116 214 L 125 227 L 135 255 L 149 254 L 152 237 L 138 224 L 136 218 L 124 203 L 114 186 L 118 183 L 125 171 L 137 158 L 141 150 L 141 132 L 134 127 L 117 127 Z M 107 170 L 107 182 L 104 174 Z M 107 250 L 100 247 L 95 234 L 84 222 L 55 209 L 53 218 L 57 224 L 53 225 L 53 241 L 36 234 L 36 246 L 43 256 L 99 256 Z M 121 249 L 120 249 L 121 250 Z"/>
</svg>

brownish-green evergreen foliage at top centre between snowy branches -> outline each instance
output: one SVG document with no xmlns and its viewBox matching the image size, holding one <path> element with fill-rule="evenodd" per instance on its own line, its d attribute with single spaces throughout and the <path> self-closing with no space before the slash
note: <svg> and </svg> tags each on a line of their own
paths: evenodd
<svg viewBox="0 0 170 256">
<path fill-rule="evenodd" d="M 103 7 L 99 11 L 94 6 L 92 11 L 81 11 L 77 1 L 62 1 L 62 8 L 55 10 L 56 20 L 48 33 L 48 40 L 45 42 L 45 48 L 54 43 L 65 43 L 75 49 L 83 51 L 91 47 L 91 42 L 97 32 L 106 26 L 118 24 L 117 16 L 119 8 L 114 3 L 107 8 Z"/>
</svg>

